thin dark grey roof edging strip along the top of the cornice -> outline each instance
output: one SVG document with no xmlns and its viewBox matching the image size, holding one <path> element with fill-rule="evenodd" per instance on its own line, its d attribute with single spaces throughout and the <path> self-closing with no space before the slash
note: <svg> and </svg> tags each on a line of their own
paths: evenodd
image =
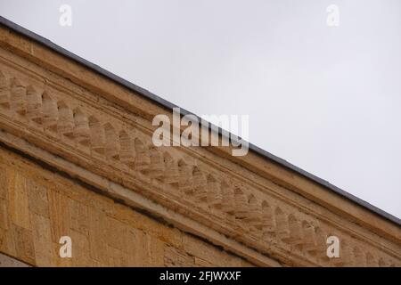
<svg viewBox="0 0 401 285">
<path fill-rule="evenodd" d="M 0 25 L 3 25 L 7 28 L 11 28 L 13 31 L 19 33 L 20 35 L 28 37 L 30 40 L 36 41 L 37 43 L 39 43 L 41 45 L 45 45 L 46 47 L 50 48 L 51 50 L 53 50 L 57 53 L 61 53 L 63 56 L 69 58 L 72 61 L 77 61 L 78 63 L 86 66 L 86 68 L 94 70 L 94 72 L 111 79 L 112 81 L 118 83 L 119 85 L 123 85 L 123 86 L 127 87 L 128 89 L 134 91 L 137 94 L 141 94 L 144 98 L 147 98 L 147 99 L 151 100 L 152 102 L 159 103 L 161 106 L 163 106 L 167 109 L 172 110 L 173 108 L 178 107 L 175 104 L 168 102 L 167 100 L 164 100 L 155 94 L 152 94 L 148 90 L 143 89 L 142 87 L 127 81 L 126 79 L 118 77 L 117 75 L 111 73 L 110 71 L 102 69 L 98 65 L 95 65 L 94 63 L 92 63 L 90 61 L 86 61 L 85 59 L 79 57 L 78 55 L 76 55 L 74 53 L 70 53 L 68 50 L 62 48 L 59 45 L 55 45 L 54 43 L 52 43 L 45 37 L 41 37 L 41 36 L 31 32 L 27 28 L 22 28 L 19 25 L 12 22 L 11 20 L 7 20 L 2 16 L 0 16 Z M 180 109 L 181 109 L 181 113 L 184 115 L 187 115 L 187 114 L 193 115 L 193 113 L 188 110 L 184 110 L 182 108 L 180 108 Z M 198 118 L 200 118 L 200 117 L 198 117 Z M 201 118 L 200 118 L 200 121 L 201 121 Z M 209 128 L 211 128 L 211 126 L 213 126 L 210 123 L 208 123 L 208 125 L 209 125 Z M 224 134 L 220 127 L 218 127 L 218 132 L 219 132 L 219 134 Z M 389 221 L 391 221 L 395 224 L 401 225 L 401 219 L 397 218 L 396 216 L 392 216 L 389 213 L 381 210 L 380 208 L 377 208 L 377 207 L 373 206 L 372 204 L 369 204 L 368 202 L 364 201 L 363 199 L 359 199 L 356 196 L 348 193 L 347 191 L 341 190 L 339 187 L 332 185 L 331 183 L 323 180 L 322 178 L 312 175 L 312 174 L 308 173 L 307 171 L 292 165 L 288 161 L 286 161 L 284 159 L 280 159 L 279 157 L 276 157 L 273 154 L 258 148 L 258 146 L 254 145 L 252 143 L 249 144 L 249 148 L 250 148 L 250 151 L 258 153 L 258 155 L 260 155 L 266 159 L 273 160 L 275 163 L 281 165 L 282 167 L 291 169 L 292 171 L 295 171 L 299 175 L 307 177 L 308 179 L 314 181 L 315 183 L 323 185 L 325 188 L 330 189 L 331 191 L 339 194 L 340 196 L 355 202 L 357 205 L 362 206 L 362 207 L 370 210 L 371 212 L 388 219 Z"/>
</svg>

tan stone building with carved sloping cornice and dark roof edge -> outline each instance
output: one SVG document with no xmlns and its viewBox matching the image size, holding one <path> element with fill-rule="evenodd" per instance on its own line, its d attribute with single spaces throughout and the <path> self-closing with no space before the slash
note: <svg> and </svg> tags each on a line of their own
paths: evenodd
<svg viewBox="0 0 401 285">
<path fill-rule="evenodd" d="M 1 18 L 0 265 L 401 265 L 399 219 L 282 159 L 154 147 L 172 107 Z"/>
</svg>

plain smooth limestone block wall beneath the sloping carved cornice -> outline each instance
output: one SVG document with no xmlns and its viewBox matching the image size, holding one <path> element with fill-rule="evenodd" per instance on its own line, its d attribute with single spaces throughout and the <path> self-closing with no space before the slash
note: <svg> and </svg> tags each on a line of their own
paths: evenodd
<svg viewBox="0 0 401 285">
<path fill-rule="evenodd" d="M 61 236 L 72 258 L 60 257 Z M 0 252 L 37 266 L 251 265 L 4 148 Z"/>
</svg>

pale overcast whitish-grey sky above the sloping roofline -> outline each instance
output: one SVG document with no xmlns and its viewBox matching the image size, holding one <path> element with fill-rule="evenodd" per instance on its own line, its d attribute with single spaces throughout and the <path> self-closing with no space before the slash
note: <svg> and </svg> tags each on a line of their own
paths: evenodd
<svg viewBox="0 0 401 285">
<path fill-rule="evenodd" d="M 250 142 L 401 217 L 401 1 L 0 0 L 0 15 L 195 114 L 249 114 Z"/>
</svg>

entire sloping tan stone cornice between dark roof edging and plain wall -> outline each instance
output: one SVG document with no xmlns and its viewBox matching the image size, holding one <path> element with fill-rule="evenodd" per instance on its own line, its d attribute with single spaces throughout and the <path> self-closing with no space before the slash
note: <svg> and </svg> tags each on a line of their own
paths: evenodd
<svg viewBox="0 0 401 285">
<path fill-rule="evenodd" d="M 156 102 L 6 28 L 0 46 L 7 145 L 258 265 L 401 265 L 398 225 L 253 153 L 156 148 L 151 118 L 170 115 Z"/>
</svg>

